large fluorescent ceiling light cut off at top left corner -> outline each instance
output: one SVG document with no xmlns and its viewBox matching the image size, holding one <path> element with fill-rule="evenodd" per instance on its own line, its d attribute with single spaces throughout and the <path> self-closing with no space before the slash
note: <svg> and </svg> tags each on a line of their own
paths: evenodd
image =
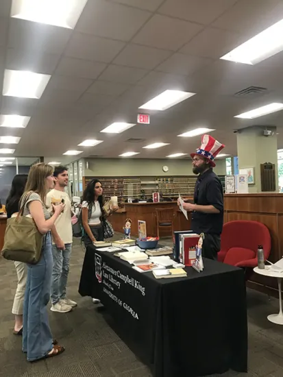
<svg viewBox="0 0 283 377">
<path fill-rule="evenodd" d="M 11 17 L 73 29 L 87 0 L 13 0 Z"/>
</svg>

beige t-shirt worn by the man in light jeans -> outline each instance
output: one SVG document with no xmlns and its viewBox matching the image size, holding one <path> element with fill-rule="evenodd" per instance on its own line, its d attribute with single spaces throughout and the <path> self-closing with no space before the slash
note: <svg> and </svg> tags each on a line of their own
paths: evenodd
<svg viewBox="0 0 283 377">
<path fill-rule="evenodd" d="M 49 211 L 52 211 L 51 202 L 61 202 L 62 199 L 64 199 L 64 204 L 66 204 L 66 206 L 64 208 L 64 211 L 55 221 L 55 226 L 60 236 L 60 239 L 62 239 L 64 243 L 73 243 L 73 230 L 71 223 L 71 201 L 69 195 L 64 191 L 52 189 L 47 194 L 46 205 Z"/>
</svg>

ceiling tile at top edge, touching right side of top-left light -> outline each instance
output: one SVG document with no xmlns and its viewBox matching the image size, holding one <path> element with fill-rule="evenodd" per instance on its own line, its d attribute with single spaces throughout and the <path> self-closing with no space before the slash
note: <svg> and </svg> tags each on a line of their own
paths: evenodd
<svg viewBox="0 0 283 377">
<path fill-rule="evenodd" d="M 78 32 L 118 40 L 130 40 L 151 13 L 104 0 L 86 3 L 76 26 Z"/>
</svg>

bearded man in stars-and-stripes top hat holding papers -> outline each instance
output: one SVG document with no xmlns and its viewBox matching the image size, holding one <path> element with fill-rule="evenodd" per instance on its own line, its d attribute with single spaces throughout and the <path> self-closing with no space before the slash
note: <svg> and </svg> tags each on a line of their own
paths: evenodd
<svg viewBox="0 0 283 377">
<path fill-rule="evenodd" d="M 223 189 L 218 176 L 213 172 L 214 158 L 224 145 L 210 135 L 201 138 L 201 147 L 190 156 L 193 158 L 193 172 L 198 175 L 195 184 L 194 204 L 186 199 L 182 207 L 192 214 L 192 230 L 204 233 L 202 256 L 217 260 L 220 250 L 220 236 L 223 229 Z M 178 199 L 180 205 L 180 199 Z"/>
</svg>

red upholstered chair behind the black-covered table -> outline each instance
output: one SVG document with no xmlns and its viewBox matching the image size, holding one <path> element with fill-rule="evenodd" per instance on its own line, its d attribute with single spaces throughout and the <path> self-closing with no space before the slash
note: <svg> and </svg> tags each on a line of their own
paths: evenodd
<svg viewBox="0 0 283 377">
<path fill-rule="evenodd" d="M 217 258 L 227 265 L 253 268 L 258 265 L 258 245 L 263 246 L 266 260 L 271 250 L 267 226 L 258 221 L 230 221 L 223 226 L 221 251 Z"/>
</svg>

